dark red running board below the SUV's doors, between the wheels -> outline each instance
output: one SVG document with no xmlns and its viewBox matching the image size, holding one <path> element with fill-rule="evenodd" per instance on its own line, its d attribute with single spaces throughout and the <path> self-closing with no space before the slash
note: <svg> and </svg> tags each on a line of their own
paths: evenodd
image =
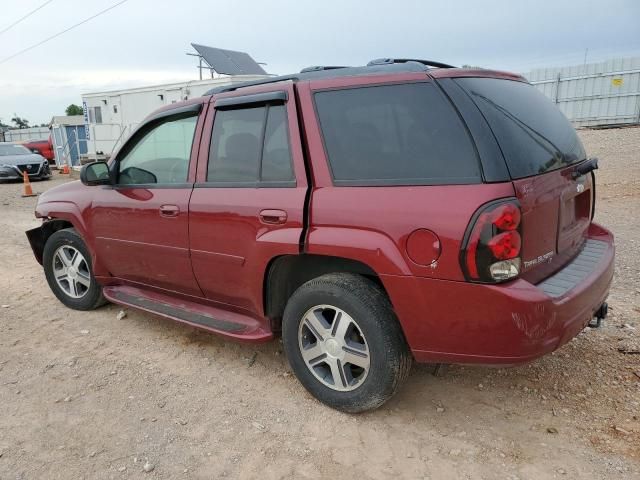
<svg viewBox="0 0 640 480">
<path fill-rule="evenodd" d="M 103 288 L 103 294 L 110 302 L 160 315 L 226 337 L 252 342 L 273 338 L 273 333 L 265 330 L 260 322 L 252 317 L 156 291 L 129 286 L 108 286 Z"/>
</svg>

